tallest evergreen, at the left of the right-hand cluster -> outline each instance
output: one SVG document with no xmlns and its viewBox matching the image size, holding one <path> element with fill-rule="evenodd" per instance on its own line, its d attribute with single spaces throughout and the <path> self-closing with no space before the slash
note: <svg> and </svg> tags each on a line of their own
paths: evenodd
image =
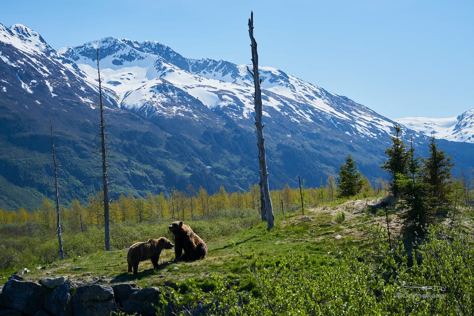
<svg viewBox="0 0 474 316">
<path fill-rule="evenodd" d="M 381 168 L 390 173 L 392 177 L 392 181 L 390 182 L 390 191 L 396 197 L 400 194 L 400 190 L 396 182 L 397 174 L 399 173 L 406 175 L 408 153 L 406 151 L 406 146 L 398 136 L 401 131 L 400 125 L 395 124 L 393 128 L 395 129 L 395 136 L 391 138 L 393 145 L 392 147 L 385 150 L 388 160 L 384 161 Z"/>
</svg>

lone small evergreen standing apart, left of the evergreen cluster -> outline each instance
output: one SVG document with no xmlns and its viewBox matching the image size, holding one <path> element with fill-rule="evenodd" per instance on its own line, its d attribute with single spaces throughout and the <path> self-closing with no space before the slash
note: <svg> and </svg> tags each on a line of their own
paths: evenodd
<svg viewBox="0 0 474 316">
<path fill-rule="evenodd" d="M 357 171 L 356 161 L 350 154 L 347 155 L 345 163 L 340 167 L 337 182 L 337 196 L 339 198 L 348 198 L 361 192 L 362 174 Z"/>
</svg>

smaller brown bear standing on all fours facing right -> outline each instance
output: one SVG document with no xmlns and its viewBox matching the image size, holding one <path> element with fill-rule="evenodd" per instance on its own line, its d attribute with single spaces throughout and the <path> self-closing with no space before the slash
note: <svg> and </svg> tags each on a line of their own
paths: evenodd
<svg viewBox="0 0 474 316">
<path fill-rule="evenodd" d="M 138 263 L 151 259 L 154 269 L 158 269 L 158 259 L 161 250 L 171 249 L 173 244 L 168 238 L 160 237 L 159 239 L 150 238 L 145 242 L 136 242 L 130 246 L 127 254 L 127 263 L 129 264 L 129 272 L 138 273 Z"/>
</svg>

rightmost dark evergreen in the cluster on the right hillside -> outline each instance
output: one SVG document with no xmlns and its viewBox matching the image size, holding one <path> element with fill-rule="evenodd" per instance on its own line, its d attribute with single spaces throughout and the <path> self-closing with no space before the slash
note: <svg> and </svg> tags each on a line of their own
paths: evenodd
<svg viewBox="0 0 474 316">
<path fill-rule="evenodd" d="M 423 159 L 423 181 L 429 186 L 429 193 L 433 197 L 434 204 L 447 202 L 447 197 L 451 193 L 451 186 L 448 180 L 451 178 L 451 168 L 454 163 L 451 157 L 446 157 L 443 150 L 438 150 L 434 135 L 431 137 L 430 157 Z"/>
</svg>

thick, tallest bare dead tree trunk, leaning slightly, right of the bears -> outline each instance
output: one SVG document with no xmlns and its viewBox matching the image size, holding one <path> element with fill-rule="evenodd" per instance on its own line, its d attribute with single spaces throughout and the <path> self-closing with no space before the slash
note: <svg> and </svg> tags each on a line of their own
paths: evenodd
<svg viewBox="0 0 474 316">
<path fill-rule="evenodd" d="M 270 189 L 268 187 L 268 171 L 267 171 L 267 158 L 265 156 L 265 139 L 263 137 L 263 123 L 262 123 L 262 90 L 260 88 L 260 78 L 258 73 L 258 54 L 257 54 L 257 41 L 254 38 L 254 13 L 252 12 L 249 19 L 249 35 L 252 46 L 252 64 L 253 72 L 248 69 L 252 77 L 254 78 L 255 85 L 255 126 L 257 128 L 257 146 L 258 146 L 258 161 L 260 165 L 260 183 L 261 183 L 261 200 L 264 204 L 265 217 L 267 220 L 267 229 L 270 229 L 274 225 L 273 207 L 270 199 Z M 262 199 L 263 196 L 263 199 Z M 262 212 L 263 213 L 263 212 Z"/>
</svg>

